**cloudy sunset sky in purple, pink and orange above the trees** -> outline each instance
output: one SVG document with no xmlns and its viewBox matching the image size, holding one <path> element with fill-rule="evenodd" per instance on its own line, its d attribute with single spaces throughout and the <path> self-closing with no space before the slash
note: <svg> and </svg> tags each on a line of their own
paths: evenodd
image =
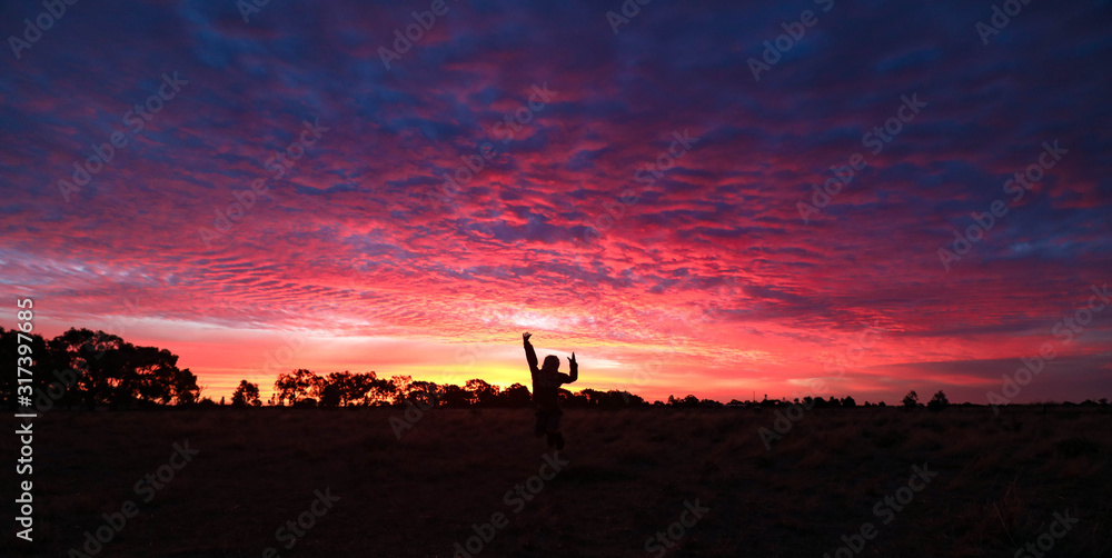
<svg viewBox="0 0 1112 558">
<path fill-rule="evenodd" d="M 49 9 L 0 282 L 202 396 L 528 383 L 532 331 L 651 401 L 1112 397 L 1108 1 Z"/>
</svg>

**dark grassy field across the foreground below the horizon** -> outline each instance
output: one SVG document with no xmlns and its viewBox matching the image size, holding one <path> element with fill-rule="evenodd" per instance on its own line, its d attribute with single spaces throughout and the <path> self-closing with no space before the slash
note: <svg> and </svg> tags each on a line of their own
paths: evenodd
<svg viewBox="0 0 1112 558">
<path fill-rule="evenodd" d="M 1039 556 L 1040 536 L 1046 556 L 1112 551 L 1108 407 L 815 409 L 771 451 L 757 436 L 771 409 L 572 409 L 554 477 L 530 410 L 433 410 L 401 440 L 390 416 L 401 410 L 46 412 L 34 542 L 10 531 L 0 556 L 81 550 L 128 500 L 137 515 L 97 556 L 448 557 L 495 514 L 506 525 L 481 528 L 490 540 L 473 556 L 1011 557 Z M 11 461 L 16 441 L 0 438 Z M 175 457 L 171 480 L 136 490 L 187 441 L 199 452 Z M 910 481 L 915 466 L 936 476 Z M 505 498 L 538 472 L 552 478 L 525 488 L 532 500 Z M 316 491 L 339 499 L 314 505 Z M 698 518 L 685 506 L 696 500 L 709 509 Z M 1055 514 L 1076 521 L 1066 530 Z M 298 516 L 312 527 L 287 549 L 292 532 L 276 531 Z"/>
</svg>

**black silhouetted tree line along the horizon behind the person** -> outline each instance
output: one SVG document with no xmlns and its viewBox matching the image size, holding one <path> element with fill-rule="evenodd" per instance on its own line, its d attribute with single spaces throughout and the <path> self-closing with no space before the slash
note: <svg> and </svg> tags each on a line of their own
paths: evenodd
<svg viewBox="0 0 1112 558">
<path fill-rule="evenodd" d="M 18 336 L 31 341 L 19 342 Z M 197 377 L 188 368 L 179 369 L 178 356 L 158 347 L 129 343 L 119 336 L 103 331 L 70 328 L 64 333 L 44 339 L 39 335 L 21 333 L 0 327 L 0 362 L 17 362 L 16 373 L 0 375 L 0 407 L 17 409 L 34 407 L 49 410 L 54 406 L 66 408 L 128 409 L 160 406 L 218 406 L 224 405 L 200 396 Z M 26 371 L 24 371 L 26 370 Z M 30 378 L 30 381 L 26 381 Z M 27 398 L 27 399 L 23 399 Z M 464 386 L 414 380 L 409 376 L 379 378 L 370 372 L 331 372 L 317 375 L 298 369 L 280 373 L 275 379 L 274 395 L 266 401 L 274 407 L 367 407 L 367 406 L 423 406 L 440 408 L 465 407 L 529 407 L 533 395 L 529 388 L 514 383 L 507 388 L 475 378 Z M 567 408 L 625 408 L 648 407 L 641 396 L 624 390 L 599 391 L 583 389 L 573 392 L 559 390 L 560 405 Z M 941 410 L 951 403 L 941 390 L 924 403 L 911 391 L 901 401 L 905 409 L 925 407 Z M 257 383 L 241 380 L 231 397 L 234 407 L 261 407 Z M 804 397 L 794 403 L 768 399 L 722 403 L 713 399 L 698 399 L 693 395 L 683 398 L 668 396 L 667 402 L 654 401 L 652 407 L 778 407 L 803 405 L 805 408 L 855 408 L 853 397 Z M 962 403 L 972 405 L 972 403 Z M 1071 405 L 1071 403 L 1066 403 Z M 1086 400 L 1081 405 L 1098 405 Z M 1100 405 L 1108 405 L 1101 399 Z M 884 407 L 865 401 L 862 407 Z"/>
</svg>

